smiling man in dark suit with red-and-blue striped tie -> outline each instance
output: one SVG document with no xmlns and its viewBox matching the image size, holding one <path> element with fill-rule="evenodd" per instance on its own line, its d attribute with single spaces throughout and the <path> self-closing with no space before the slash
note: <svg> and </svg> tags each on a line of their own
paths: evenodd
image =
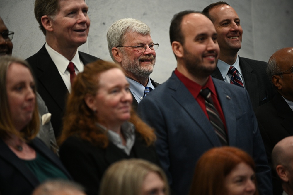
<svg viewBox="0 0 293 195">
<path fill-rule="evenodd" d="M 220 46 L 219 61 L 212 77 L 237 85 L 241 83 L 239 85 L 248 91 L 253 108 L 270 101 L 273 89 L 265 73 L 267 63 L 237 54 L 243 30 L 236 11 L 219 1 L 207 6 L 203 13 L 214 23 Z"/>
</svg>

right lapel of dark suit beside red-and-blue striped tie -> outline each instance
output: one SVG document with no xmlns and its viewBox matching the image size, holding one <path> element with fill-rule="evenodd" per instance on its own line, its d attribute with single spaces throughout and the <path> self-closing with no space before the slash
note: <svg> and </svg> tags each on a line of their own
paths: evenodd
<svg viewBox="0 0 293 195">
<path fill-rule="evenodd" d="M 248 63 L 245 63 L 241 57 L 239 57 L 239 66 L 242 70 L 245 88 L 251 99 L 252 107 L 256 108 L 259 105 L 259 92 L 258 92 L 258 81 L 257 76 L 253 74 L 253 69 Z"/>
</svg>

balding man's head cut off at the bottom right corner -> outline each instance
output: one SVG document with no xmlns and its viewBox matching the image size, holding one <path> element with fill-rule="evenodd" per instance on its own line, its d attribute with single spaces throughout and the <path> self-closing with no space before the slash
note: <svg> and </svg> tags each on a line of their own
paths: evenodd
<svg viewBox="0 0 293 195">
<path fill-rule="evenodd" d="M 275 145 L 272 162 L 282 181 L 282 195 L 293 195 L 293 136 L 285 137 Z"/>
</svg>

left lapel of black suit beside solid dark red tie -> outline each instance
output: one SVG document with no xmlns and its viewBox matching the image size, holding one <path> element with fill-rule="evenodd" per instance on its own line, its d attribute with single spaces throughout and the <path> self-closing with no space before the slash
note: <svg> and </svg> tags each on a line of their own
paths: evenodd
<svg viewBox="0 0 293 195">
<path fill-rule="evenodd" d="M 68 89 L 59 74 L 59 71 L 49 56 L 45 45 L 38 52 L 37 68 L 42 72 L 38 76 L 40 84 L 48 91 L 61 110 L 65 108 L 65 97 Z"/>
</svg>

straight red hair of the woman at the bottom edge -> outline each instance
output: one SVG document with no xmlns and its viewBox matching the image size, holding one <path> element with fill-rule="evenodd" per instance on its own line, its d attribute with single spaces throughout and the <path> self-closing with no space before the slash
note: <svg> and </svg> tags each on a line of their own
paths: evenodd
<svg viewBox="0 0 293 195">
<path fill-rule="evenodd" d="M 255 163 L 245 151 L 235 147 L 216 147 L 197 161 L 189 194 L 225 195 L 224 180 L 239 164 L 245 163 L 255 172 Z M 255 180 L 255 187 L 257 187 Z M 258 195 L 255 191 L 254 195 Z"/>
</svg>

